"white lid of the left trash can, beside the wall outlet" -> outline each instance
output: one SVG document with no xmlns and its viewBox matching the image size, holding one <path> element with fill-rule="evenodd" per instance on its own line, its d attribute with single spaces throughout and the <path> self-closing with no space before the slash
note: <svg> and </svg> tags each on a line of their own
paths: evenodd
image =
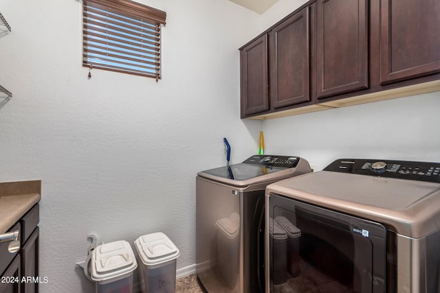
<svg viewBox="0 0 440 293">
<path fill-rule="evenodd" d="M 101 244 L 91 255 L 91 279 L 94 281 L 120 277 L 136 268 L 133 250 L 124 240 Z"/>
</svg>

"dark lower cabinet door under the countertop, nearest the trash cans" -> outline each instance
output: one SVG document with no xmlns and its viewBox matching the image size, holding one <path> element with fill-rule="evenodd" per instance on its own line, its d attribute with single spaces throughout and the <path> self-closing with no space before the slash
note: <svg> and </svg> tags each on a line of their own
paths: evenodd
<svg viewBox="0 0 440 293">
<path fill-rule="evenodd" d="M 33 281 L 21 283 L 22 293 L 39 292 L 39 235 L 39 227 L 36 227 L 20 251 L 21 276 L 33 278 Z"/>
</svg>

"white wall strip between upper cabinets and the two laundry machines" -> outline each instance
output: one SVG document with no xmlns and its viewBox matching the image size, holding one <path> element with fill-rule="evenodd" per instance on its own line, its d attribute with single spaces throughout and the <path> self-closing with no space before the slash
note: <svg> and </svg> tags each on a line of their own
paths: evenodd
<svg viewBox="0 0 440 293">
<path fill-rule="evenodd" d="M 315 170 L 341 158 L 440 162 L 439 109 L 437 92 L 267 120 L 265 147 Z"/>
</svg>

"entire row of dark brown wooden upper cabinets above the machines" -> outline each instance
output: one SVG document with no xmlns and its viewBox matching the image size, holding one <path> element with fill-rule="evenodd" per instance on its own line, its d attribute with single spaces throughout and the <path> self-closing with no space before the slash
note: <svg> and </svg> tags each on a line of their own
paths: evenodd
<svg viewBox="0 0 440 293">
<path fill-rule="evenodd" d="M 308 1 L 240 48 L 241 118 L 440 91 L 439 15 L 439 0 Z"/>
</svg>

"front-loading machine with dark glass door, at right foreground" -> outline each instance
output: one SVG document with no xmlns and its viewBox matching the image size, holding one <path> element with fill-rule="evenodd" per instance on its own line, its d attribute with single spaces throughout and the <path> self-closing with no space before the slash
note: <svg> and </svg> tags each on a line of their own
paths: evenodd
<svg viewBox="0 0 440 293">
<path fill-rule="evenodd" d="M 267 292 L 440 292 L 440 163 L 339 159 L 265 200 L 266 231 L 296 232 L 265 233 Z"/>
</svg>

